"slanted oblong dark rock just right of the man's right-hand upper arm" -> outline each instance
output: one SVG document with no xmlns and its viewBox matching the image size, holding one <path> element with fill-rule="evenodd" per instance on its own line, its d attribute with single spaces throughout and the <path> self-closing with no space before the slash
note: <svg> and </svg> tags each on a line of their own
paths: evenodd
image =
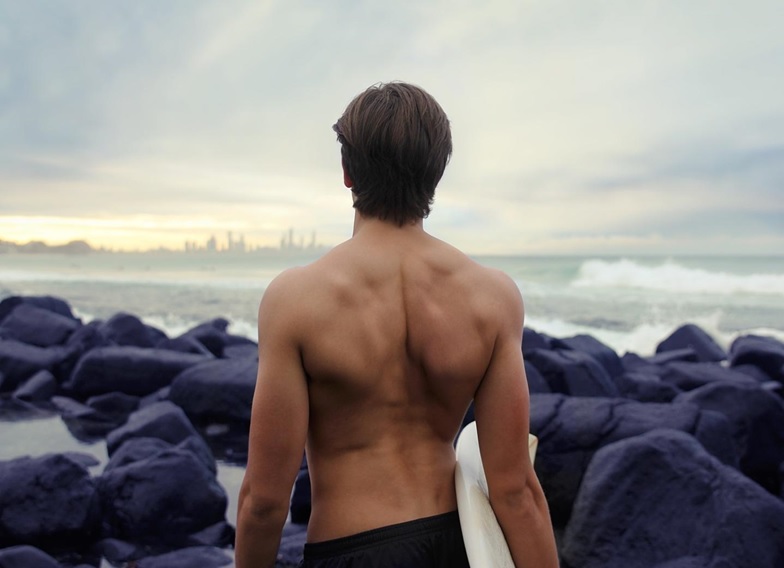
<svg viewBox="0 0 784 568">
<path fill-rule="evenodd" d="M 607 371 L 586 353 L 534 349 L 527 354 L 527 359 L 539 369 L 554 393 L 579 397 L 620 396 Z"/>
</svg>

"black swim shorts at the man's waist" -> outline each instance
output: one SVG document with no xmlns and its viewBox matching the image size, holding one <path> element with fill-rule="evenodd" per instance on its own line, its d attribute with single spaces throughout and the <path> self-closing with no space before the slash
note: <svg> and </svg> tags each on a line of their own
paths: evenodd
<svg viewBox="0 0 784 568">
<path fill-rule="evenodd" d="M 468 568 L 457 511 L 306 543 L 301 568 Z"/>
</svg>

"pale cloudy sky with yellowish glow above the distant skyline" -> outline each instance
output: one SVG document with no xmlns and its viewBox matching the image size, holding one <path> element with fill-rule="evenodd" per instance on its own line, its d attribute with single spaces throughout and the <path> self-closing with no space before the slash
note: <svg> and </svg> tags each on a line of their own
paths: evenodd
<svg viewBox="0 0 784 568">
<path fill-rule="evenodd" d="M 351 236 L 332 124 L 425 88 L 474 254 L 782 254 L 779 0 L 0 0 L 0 239 Z"/>
</svg>

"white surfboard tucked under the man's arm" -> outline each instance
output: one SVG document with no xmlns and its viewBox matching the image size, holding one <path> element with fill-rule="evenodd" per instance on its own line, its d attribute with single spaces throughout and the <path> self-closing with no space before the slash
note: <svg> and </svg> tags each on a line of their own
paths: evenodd
<svg viewBox="0 0 784 568">
<path fill-rule="evenodd" d="M 528 437 L 531 463 L 538 440 Z M 476 422 L 471 422 L 457 440 L 455 490 L 460 529 L 463 532 L 468 563 L 471 568 L 514 568 L 504 533 L 495 518 L 487 493 L 487 478 L 479 453 Z"/>
</svg>

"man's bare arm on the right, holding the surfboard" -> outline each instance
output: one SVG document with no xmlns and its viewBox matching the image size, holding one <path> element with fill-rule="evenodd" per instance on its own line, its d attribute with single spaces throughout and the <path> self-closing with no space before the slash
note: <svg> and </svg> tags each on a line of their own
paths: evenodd
<svg viewBox="0 0 784 568">
<path fill-rule="evenodd" d="M 498 335 L 474 397 L 476 427 L 490 504 L 517 568 L 558 566 L 550 513 L 528 455 L 529 394 L 522 355 L 523 301 L 499 278 Z"/>
</svg>

